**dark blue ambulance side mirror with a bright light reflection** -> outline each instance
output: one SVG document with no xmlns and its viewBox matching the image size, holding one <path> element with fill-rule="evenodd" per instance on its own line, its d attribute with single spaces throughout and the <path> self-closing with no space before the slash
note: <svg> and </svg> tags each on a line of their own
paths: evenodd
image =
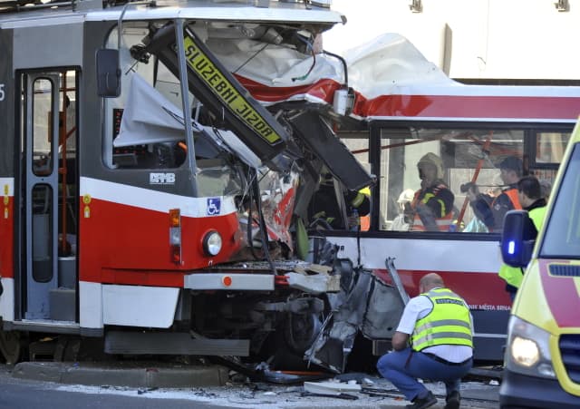
<svg viewBox="0 0 580 409">
<path fill-rule="evenodd" d="M 499 244 L 504 263 L 512 267 L 527 267 L 532 258 L 536 236 L 536 227 L 526 210 L 508 211 Z"/>
</svg>

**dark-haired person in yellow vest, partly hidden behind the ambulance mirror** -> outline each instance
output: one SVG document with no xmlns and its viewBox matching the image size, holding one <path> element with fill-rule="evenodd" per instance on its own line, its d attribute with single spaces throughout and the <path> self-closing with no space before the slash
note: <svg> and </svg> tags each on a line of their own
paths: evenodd
<svg viewBox="0 0 580 409">
<path fill-rule="evenodd" d="M 517 196 L 522 209 L 527 210 L 527 214 L 536 231 L 542 227 L 544 217 L 546 216 L 546 192 L 535 176 L 524 176 L 517 181 Z M 524 278 L 524 270 L 519 267 L 507 266 L 502 264 L 499 268 L 499 277 L 506 281 L 506 291 L 512 302 L 516 298 L 517 288 Z"/>
</svg>

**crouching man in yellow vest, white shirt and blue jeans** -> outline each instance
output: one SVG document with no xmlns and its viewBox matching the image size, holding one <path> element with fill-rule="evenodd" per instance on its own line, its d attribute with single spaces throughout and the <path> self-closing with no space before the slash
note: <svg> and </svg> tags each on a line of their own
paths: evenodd
<svg viewBox="0 0 580 409">
<path fill-rule="evenodd" d="M 446 288 L 440 275 L 423 276 L 419 291 L 402 312 L 393 351 L 382 355 L 377 369 L 412 402 L 408 408 L 437 404 L 421 378 L 443 382 L 445 408 L 457 409 L 461 377 L 473 365 L 473 318 L 465 300 Z"/>
</svg>

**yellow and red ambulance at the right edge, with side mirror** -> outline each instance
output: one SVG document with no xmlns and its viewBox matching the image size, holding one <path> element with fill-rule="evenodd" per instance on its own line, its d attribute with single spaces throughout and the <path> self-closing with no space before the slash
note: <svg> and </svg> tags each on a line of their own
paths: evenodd
<svg viewBox="0 0 580 409">
<path fill-rule="evenodd" d="M 537 238 L 524 210 L 506 215 L 504 261 L 526 268 L 507 328 L 502 408 L 580 407 L 580 122 Z"/>
</svg>

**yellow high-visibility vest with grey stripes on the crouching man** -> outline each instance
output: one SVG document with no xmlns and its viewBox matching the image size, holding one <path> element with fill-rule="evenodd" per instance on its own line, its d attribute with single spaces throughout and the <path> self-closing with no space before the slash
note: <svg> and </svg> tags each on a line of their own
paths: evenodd
<svg viewBox="0 0 580 409">
<path fill-rule="evenodd" d="M 433 309 L 415 323 L 411 346 L 421 351 L 428 346 L 458 345 L 473 347 L 469 307 L 449 288 L 436 288 L 421 294 L 429 297 Z"/>
</svg>

